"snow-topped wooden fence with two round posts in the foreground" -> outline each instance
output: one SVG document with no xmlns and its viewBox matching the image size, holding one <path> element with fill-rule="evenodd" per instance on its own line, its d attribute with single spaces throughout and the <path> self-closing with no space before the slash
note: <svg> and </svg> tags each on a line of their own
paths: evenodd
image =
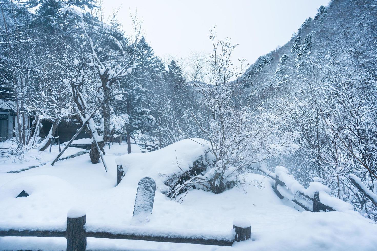
<svg viewBox="0 0 377 251">
<path fill-rule="evenodd" d="M 86 238 L 106 238 L 125 240 L 146 240 L 156 242 L 194 243 L 203 245 L 231 246 L 233 242 L 250 239 L 250 222 L 235 219 L 233 230 L 228 233 L 213 231 L 199 233 L 183 230 L 159 230 L 138 227 L 124 228 L 107 224 L 87 224 L 86 214 L 80 210 L 68 211 L 67 225 L 7 223 L 0 226 L 0 236 L 18 237 L 66 237 L 67 251 L 83 251 L 86 249 Z"/>
</svg>

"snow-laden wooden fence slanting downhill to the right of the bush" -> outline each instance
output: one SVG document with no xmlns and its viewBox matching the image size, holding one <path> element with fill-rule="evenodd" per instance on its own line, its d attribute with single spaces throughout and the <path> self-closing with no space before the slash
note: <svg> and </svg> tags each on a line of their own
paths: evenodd
<svg viewBox="0 0 377 251">
<path fill-rule="evenodd" d="M 285 167 L 277 166 L 275 173 L 270 172 L 262 166 L 257 166 L 255 169 L 275 181 L 273 189 L 280 199 L 288 198 L 307 211 L 353 210 L 351 204 L 331 197 L 329 195 L 329 188 L 319 182 L 313 181 L 305 189 L 292 175 L 288 174 L 288 170 Z"/>
</svg>

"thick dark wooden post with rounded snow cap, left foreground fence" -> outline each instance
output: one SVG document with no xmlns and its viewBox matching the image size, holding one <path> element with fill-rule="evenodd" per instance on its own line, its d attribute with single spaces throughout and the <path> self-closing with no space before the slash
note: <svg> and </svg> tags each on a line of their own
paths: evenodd
<svg viewBox="0 0 377 251">
<path fill-rule="evenodd" d="M 71 209 L 67 217 L 67 251 L 85 251 L 86 235 L 84 225 L 86 223 L 86 214 Z"/>
</svg>

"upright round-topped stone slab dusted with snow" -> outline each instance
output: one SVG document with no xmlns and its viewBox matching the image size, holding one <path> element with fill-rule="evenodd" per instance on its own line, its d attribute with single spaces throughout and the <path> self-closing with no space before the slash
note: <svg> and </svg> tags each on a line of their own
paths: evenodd
<svg viewBox="0 0 377 251">
<path fill-rule="evenodd" d="M 152 178 L 143 178 L 139 181 L 136 192 L 135 207 L 133 208 L 132 223 L 149 222 L 155 200 L 156 183 Z"/>
</svg>

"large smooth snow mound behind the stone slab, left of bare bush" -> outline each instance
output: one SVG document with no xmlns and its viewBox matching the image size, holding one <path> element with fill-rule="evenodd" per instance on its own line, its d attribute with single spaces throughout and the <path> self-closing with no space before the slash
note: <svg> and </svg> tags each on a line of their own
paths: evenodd
<svg viewBox="0 0 377 251">
<path fill-rule="evenodd" d="M 210 143 L 201 138 L 187 138 L 153 152 L 122 155 L 115 160 L 125 172 L 120 186 L 137 187 L 146 176 L 153 178 L 157 187 L 165 186 L 169 174 L 189 170 L 204 155 L 213 159 Z"/>
</svg>

